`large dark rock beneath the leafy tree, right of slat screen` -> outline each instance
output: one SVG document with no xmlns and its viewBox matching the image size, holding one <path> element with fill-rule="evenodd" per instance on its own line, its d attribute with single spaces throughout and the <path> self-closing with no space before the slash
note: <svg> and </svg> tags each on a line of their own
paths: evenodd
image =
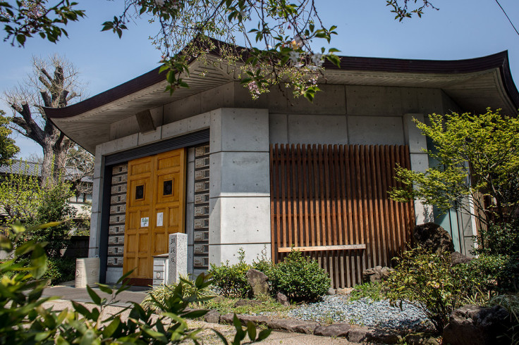
<svg viewBox="0 0 519 345">
<path fill-rule="evenodd" d="M 430 249 L 433 253 L 444 253 L 446 251 L 452 253 L 454 251 L 451 235 L 434 222 L 426 222 L 415 226 L 413 236 L 417 245 Z"/>
</svg>

